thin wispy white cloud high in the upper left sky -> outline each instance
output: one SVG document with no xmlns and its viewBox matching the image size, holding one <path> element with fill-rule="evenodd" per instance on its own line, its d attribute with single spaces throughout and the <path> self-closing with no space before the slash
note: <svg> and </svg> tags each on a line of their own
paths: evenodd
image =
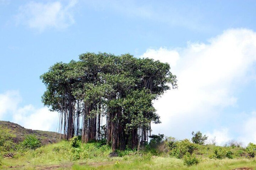
<svg viewBox="0 0 256 170">
<path fill-rule="evenodd" d="M 16 18 L 18 23 L 38 29 L 40 32 L 46 28 L 63 29 L 75 22 L 72 8 L 76 2 L 76 0 L 71 0 L 66 6 L 58 1 L 48 3 L 29 2 L 20 7 L 20 13 Z"/>
</svg>

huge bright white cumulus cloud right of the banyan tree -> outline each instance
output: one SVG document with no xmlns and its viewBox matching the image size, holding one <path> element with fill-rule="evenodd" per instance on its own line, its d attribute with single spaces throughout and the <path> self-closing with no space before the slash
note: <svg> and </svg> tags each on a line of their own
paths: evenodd
<svg viewBox="0 0 256 170">
<path fill-rule="evenodd" d="M 186 48 L 177 49 L 148 49 L 141 56 L 170 63 L 178 79 L 178 89 L 154 103 L 162 124 L 153 125 L 153 132 L 182 139 L 191 138 L 192 131 L 210 130 L 222 143 L 230 131 L 213 129 L 225 121 L 222 109 L 238 104 L 235 91 L 253 77 L 256 33 L 229 29 L 207 43 L 189 42 Z"/>
</svg>

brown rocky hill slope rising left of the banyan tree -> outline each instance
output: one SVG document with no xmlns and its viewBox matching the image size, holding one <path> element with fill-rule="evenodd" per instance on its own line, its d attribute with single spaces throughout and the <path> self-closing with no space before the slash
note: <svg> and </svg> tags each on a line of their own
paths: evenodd
<svg viewBox="0 0 256 170">
<path fill-rule="evenodd" d="M 12 138 L 14 143 L 19 143 L 24 140 L 26 135 L 34 134 L 41 141 L 43 145 L 59 142 L 59 133 L 50 131 L 32 130 L 22 127 L 16 123 L 9 121 L 0 121 L 0 127 L 9 129 L 9 133 L 15 137 Z"/>
</svg>

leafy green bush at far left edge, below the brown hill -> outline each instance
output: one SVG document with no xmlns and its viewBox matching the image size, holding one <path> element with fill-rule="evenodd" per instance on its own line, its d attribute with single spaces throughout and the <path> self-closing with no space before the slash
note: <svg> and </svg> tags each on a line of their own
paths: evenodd
<svg viewBox="0 0 256 170">
<path fill-rule="evenodd" d="M 0 125 L 0 152 L 13 150 L 15 145 L 12 141 L 15 135 L 10 133 L 10 130 L 7 128 L 3 128 Z"/>
</svg>

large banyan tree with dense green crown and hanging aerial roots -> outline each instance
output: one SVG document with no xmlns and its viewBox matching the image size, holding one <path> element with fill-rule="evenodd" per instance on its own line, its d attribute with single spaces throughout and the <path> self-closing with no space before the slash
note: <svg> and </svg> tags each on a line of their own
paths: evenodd
<svg viewBox="0 0 256 170">
<path fill-rule="evenodd" d="M 136 148 L 148 140 L 151 123 L 160 123 L 152 105 L 176 88 L 168 63 L 130 54 L 85 53 L 79 61 L 56 63 L 40 76 L 46 85 L 44 105 L 59 112 L 66 139 L 106 139 L 113 150 Z"/>
</svg>

